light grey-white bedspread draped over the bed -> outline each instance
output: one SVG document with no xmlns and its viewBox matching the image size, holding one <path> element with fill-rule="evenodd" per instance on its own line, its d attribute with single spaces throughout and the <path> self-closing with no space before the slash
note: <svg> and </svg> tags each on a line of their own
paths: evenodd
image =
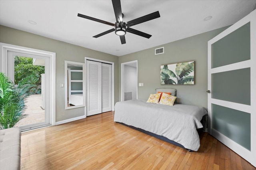
<svg viewBox="0 0 256 170">
<path fill-rule="evenodd" d="M 206 109 L 199 106 L 130 100 L 116 103 L 114 121 L 164 136 L 197 151 L 200 139 L 196 129 L 203 127 L 200 120 L 206 114 Z"/>
</svg>

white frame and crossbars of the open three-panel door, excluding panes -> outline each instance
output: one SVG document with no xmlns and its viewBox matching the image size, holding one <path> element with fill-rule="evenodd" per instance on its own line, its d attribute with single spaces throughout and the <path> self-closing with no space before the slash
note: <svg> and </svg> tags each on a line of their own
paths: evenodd
<svg viewBox="0 0 256 170">
<path fill-rule="evenodd" d="M 240 28 L 241 26 L 244 26 L 250 22 L 250 60 L 241 61 L 238 63 L 233 63 L 229 65 L 224 65 L 221 67 L 216 67 L 212 69 L 212 44 L 220 40 L 221 38 L 224 38 L 228 34 L 234 32 L 236 29 Z M 251 105 L 243 105 L 239 103 L 233 103 L 229 101 L 222 101 L 218 99 L 212 99 L 212 94 L 208 93 L 208 132 L 212 134 L 213 136 L 217 137 L 220 142 L 224 143 L 226 146 L 234 150 L 237 154 L 242 156 L 245 160 L 250 162 L 253 166 L 256 166 L 256 67 L 254 66 L 256 63 L 256 10 L 251 12 L 249 15 L 245 16 L 226 30 L 224 30 L 222 33 L 220 33 L 218 36 L 214 37 L 212 40 L 208 41 L 208 90 L 211 90 L 212 88 L 212 81 L 211 81 L 211 74 L 218 73 L 218 72 L 224 72 L 224 71 L 230 71 L 230 70 L 236 70 L 236 69 L 242 69 L 242 68 L 248 68 L 250 67 L 250 90 L 251 90 Z M 234 92 L 235 93 L 235 92 Z M 242 147 L 241 145 L 237 144 L 233 140 L 229 139 L 225 135 L 221 134 L 217 130 L 212 128 L 212 109 L 211 109 L 211 103 L 214 103 L 216 105 L 229 107 L 231 109 L 244 111 L 246 113 L 250 113 L 251 118 L 251 150 L 247 150 L 246 148 Z"/>
</svg>

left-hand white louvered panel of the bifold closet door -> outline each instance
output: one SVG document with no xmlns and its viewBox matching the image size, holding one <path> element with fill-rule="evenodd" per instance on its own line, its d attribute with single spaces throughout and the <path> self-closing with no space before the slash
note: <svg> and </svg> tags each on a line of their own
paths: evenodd
<svg viewBox="0 0 256 170">
<path fill-rule="evenodd" d="M 102 113 L 101 63 L 86 61 L 86 115 Z"/>
</svg>

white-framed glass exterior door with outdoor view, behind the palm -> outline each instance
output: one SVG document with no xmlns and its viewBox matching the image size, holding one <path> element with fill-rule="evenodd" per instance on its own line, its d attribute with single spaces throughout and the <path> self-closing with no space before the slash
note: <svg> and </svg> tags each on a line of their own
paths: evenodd
<svg viewBox="0 0 256 170">
<path fill-rule="evenodd" d="M 0 43 L 0 71 L 14 84 L 29 77 L 30 96 L 24 101 L 27 117 L 15 125 L 22 131 L 55 125 L 56 53 Z"/>
</svg>

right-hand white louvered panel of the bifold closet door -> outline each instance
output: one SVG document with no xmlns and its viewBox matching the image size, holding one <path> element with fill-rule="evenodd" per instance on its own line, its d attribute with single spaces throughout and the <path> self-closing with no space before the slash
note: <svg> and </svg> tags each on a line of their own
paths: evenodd
<svg viewBox="0 0 256 170">
<path fill-rule="evenodd" d="M 112 110 L 112 78 L 111 78 L 111 64 L 102 63 L 101 67 L 101 87 L 102 87 L 102 112 L 108 112 Z"/>
</svg>

